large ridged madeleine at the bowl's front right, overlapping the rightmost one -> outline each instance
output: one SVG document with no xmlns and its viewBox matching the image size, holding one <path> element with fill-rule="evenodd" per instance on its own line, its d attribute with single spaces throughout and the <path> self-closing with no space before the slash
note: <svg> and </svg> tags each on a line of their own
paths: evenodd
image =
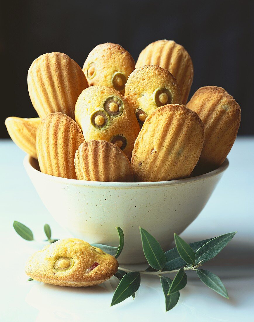
<svg viewBox="0 0 254 322">
<path fill-rule="evenodd" d="M 204 143 L 204 124 L 184 105 L 164 105 L 146 119 L 132 152 L 134 181 L 188 177 Z"/>
</svg>

